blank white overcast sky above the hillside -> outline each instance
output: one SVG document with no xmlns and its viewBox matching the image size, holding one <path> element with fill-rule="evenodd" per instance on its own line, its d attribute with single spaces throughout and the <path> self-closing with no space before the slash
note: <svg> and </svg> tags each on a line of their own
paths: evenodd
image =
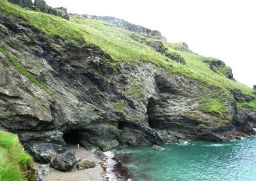
<svg viewBox="0 0 256 181">
<path fill-rule="evenodd" d="M 216 57 L 234 78 L 256 84 L 255 0 L 46 0 L 68 12 L 108 15 L 157 29 L 169 42 L 184 41 L 200 55 Z"/>
</svg>

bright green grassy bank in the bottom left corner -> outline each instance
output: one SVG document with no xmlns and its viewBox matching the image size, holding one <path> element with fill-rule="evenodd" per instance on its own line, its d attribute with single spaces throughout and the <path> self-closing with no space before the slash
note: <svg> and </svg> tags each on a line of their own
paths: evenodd
<svg viewBox="0 0 256 181">
<path fill-rule="evenodd" d="M 33 158 L 24 152 L 16 134 L 0 131 L 0 177 L 4 181 L 26 180 L 24 173 Z"/>
</svg>

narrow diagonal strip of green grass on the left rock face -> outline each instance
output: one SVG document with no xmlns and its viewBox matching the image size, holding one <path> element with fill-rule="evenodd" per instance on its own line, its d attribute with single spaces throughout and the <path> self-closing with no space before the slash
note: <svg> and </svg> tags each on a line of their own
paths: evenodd
<svg viewBox="0 0 256 181">
<path fill-rule="evenodd" d="M 19 69 L 19 71 L 27 76 L 29 78 L 29 80 L 33 83 L 35 83 L 35 85 L 37 85 L 38 87 L 40 87 L 41 89 L 43 89 L 45 92 L 47 92 L 47 94 L 49 94 L 50 96 L 52 95 L 52 92 L 49 91 L 49 89 L 47 89 L 44 85 L 42 85 L 42 83 L 40 83 L 38 80 L 36 80 L 35 76 L 31 75 L 26 68 L 24 68 L 24 66 L 15 58 L 13 57 L 13 55 L 9 54 L 9 52 L 7 52 L 7 50 L 0 45 L 0 52 L 2 52 L 9 61 L 11 61 L 13 63 L 13 65 Z"/>
</svg>

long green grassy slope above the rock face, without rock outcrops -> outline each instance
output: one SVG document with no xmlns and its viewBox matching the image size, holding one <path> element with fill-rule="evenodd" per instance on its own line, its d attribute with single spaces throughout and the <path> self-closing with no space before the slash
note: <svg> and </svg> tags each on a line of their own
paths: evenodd
<svg viewBox="0 0 256 181">
<path fill-rule="evenodd" d="M 206 64 L 204 61 L 212 60 L 212 58 L 203 57 L 190 52 L 181 52 L 177 50 L 177 45 L 173 43 L 163 42 L 169 52 L 176 52 L 184 57 L 187 65 L 184 66 L 172 61 L 156 52 L 152 47 L 139 43 L 132 38 L 134 35 L 136 35 L 138 39 L 145 37 L 124 29 L 112 27 L 108 22 L 102 22 L 100 20 L 82 20 L 74 17 L 71 17 L 70 21 L 67 21 L 53 15 L 20 8 L 15 4 L 8 3 L 6 0 L 0 0 L 0 10 L 26 19 L 29 25 L 40 29 L 50 37 L 58 36 L 77 45 L 86 41 L 86 43 L 90 45 L 99 46 L 104 52 L 111 55 L 115 61 L 114 66 L 122 61 L 129 64 L 134 64 L 136 61 L 152 62 L 173 73 L 195 78 L 207 85 L 220 87 L 225 90 L 227 94 L 229 94 L 228 90 L 240 89 L 244 94 L 255 96 L 250 87 L 229 80 L 225 76 L 211 71 L 209 64 Z M 150 38 L 146 39 L 148 41 L 156 41 Z M 166 61 L 166 59 L 168 59 L 168 61 Z M 214 101 L 212 103 L 214 103 Z"/>
</svg>

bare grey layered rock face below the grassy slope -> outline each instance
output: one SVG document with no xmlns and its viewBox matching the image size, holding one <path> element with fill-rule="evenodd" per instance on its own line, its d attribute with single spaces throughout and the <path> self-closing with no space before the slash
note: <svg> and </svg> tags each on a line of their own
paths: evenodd
<svg viewBox="0 0 256 181">
<path fill-rule="evenodd" d="M 221 141 L 254 134 L 253 111 L 244 112 L 218 87 L 149 62 L 113 69 L 99 47 L 49 38 L 21 18 L 0 17 L 1 46 L 8 52 L 0 52 L 0 129 L 18 133 L 36 161 L 48 163 L 65 152 L 65 135 L 88 149 L 111 150 L 177 141 L 178 133 Z M 222 99 L 221 113 L 202 111 L 205 97 Z"/>
</svg>

